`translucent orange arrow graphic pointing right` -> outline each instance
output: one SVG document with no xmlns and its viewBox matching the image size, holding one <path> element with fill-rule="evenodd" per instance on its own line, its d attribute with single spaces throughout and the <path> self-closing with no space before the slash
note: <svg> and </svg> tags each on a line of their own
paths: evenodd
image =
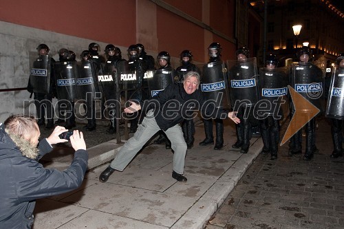
<svg viewBox="0 0 344 229">
<path fill-rule="evenodd" d="M 283 136 L 281 146 L 286 143 L 292 135 L 297 133 L 307 122 L 309 122 L 314 116 L 316 116 L 320 110 L 312 105 L 311 102 L 306 100 L 301 94 L 295 91 L 290 85 L 288 85 L 290 95 L 292 96 L 292 103 L 295 107 L 294 116 L 288 125 L 288 129 Z"/>
</svg>

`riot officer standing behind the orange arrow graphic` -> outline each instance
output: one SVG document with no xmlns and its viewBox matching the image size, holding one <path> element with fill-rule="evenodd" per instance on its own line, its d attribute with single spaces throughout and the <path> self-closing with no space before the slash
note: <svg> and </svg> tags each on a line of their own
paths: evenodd
<svg viewBox="0 0 344 229">
<path fill-rule="evenodd" d="M 315 85 L 319 84 L 322 81 L 323 72 L 319 67 L 314 65 L 310 62 L 310 57 L 312 52 L 309 47 L 303 46 L 297 52 L 297 57 L 299 58 L 299 64 L 292 67 L 292 86 L 295 88 L 298 84 L 303 85 Z M 302 67 L 299 67 L 301 65 Z M 315 88 L 315 87 L 314 87 Z M 303 97 L 307 100 L 312 102 L 312 104 L 318 108 L 320 107 L 320 98 L 310 98 L 308 89 L 306 91 L 298 91 Z M 291 117 L 294 115 L 295 109 L 292 105 L 291 109 Z M 315 145 L 315 130 L 316 130 L 316 123 L 315 117 L 312 118 L 305 124 L 305 133 L 306 133 L 306 140 L 305 140 L 305 155 L 303 156 L 303 160 L 311 160 L 314 153 L 317 151 Z M 294 155 L 302 153 L 302 129 L 297 131 L 292 138 L 290 139 L 289 144 L 289 152 L 288 155 Z"/>
</svg>

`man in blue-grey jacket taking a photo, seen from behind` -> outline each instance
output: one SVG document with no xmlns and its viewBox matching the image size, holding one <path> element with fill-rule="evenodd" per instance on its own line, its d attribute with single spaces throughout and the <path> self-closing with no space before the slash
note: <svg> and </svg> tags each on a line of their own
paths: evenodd
<svg viewBox="0 0 344 229">
<path fill-rule="evenodd" d="M 66 131 L 57 126 L 39 142 L 39 126 L 31 116 L 10 116 L 0 124 L 0 228 L 31 228 L 36 199 L 67 193 L 83 182 L 88 154 L 79 131 L 70 137 L 76 152 L 69 168 L 45 169 L 38 162 L 52 144 L 68 141 L 59 138 Z"/>
</svg>

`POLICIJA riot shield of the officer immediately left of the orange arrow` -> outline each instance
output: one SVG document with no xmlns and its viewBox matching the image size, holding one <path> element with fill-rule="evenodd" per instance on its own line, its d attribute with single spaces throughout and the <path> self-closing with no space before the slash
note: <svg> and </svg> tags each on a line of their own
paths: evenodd
<svg viewBox="0 0 344 229">
<path fill-rule="evenodd" d="M 262 67 L 259 70 L 259 103 L 266 105 L 259 116 L 268 114 L 278 115 L 283 96 L 288 94 L 288 67 L 268 69 Z"/>
</svg>

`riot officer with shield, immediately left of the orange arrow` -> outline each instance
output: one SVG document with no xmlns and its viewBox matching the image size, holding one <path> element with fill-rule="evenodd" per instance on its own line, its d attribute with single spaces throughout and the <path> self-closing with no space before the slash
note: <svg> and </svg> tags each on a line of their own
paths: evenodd
<svg viewBox="0 0 344 229">
<path fill-rule="evenodd" d="M 266 67 L 261 68 L 259 75 L 259 91 L 261 91 L 259 93 L 261 98 L 259 102 L 267 105 L 267 109 L 257 113 L 261 138 L 264 143 L 261 153 L 270 153 L 271 160 L 277 159 L 279 134 L 281 131 L 279 120 L 283 116 L 283 111 L 280 107 L 281 96 L 286 96 L 287 94 L 287 73 L 283 70 L 278 71 L 277 65 L 276 55 L 270 54 L 266 58 Z"/>
</svg>

